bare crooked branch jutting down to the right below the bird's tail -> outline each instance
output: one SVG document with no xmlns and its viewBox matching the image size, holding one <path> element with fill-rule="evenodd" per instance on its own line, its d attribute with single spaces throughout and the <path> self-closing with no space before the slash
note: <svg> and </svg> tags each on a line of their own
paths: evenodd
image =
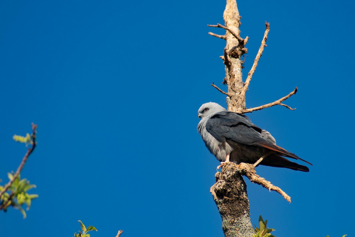
<svg viewBox="0 0 355 237">
<path fill-rule="evenodd" d="M 284 199 L 286 199 L 289 203 L 291 202 L 291 197 L 287 195 L 282 189 L 277 186 L 271 184 L 271 182 L 265 180 L 264 178 L 258 176 L 255 171 L 255 167 L 253 164 L 240 163 L 239 168 L 244 172 L 244 175 L 250 179 L 251 182 L 262 185 L 264 188 L 270 190 L 274 190 L 281 194 Z"/>
</svg>

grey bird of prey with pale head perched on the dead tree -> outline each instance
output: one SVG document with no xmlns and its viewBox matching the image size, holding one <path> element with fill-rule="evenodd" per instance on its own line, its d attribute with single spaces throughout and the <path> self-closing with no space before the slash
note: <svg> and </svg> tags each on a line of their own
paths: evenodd
<svg viewBox="0 0 355 237">
<path fill-rule="evenodd" d="M 274 137 L 253 124 L 246 115 L 227 111 L 217 103 L 208 102 L 198 109 L 197 116 L 201 118 L 197 131 L 207 149 L 221 162 L 221 166 L 226 162 L 254 164 L 263 158 L 258 165 L 309 172 L 307 166 L 285 157 L 312 165 L 310 162 L 277 146 Z"/>
</svg>

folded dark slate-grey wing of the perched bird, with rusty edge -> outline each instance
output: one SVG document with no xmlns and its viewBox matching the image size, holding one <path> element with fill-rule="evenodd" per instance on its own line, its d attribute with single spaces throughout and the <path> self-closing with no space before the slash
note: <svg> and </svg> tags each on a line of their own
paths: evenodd
<svg viewBox="0 0 355 237">
<path fill-rule="evenodd" d="M 265 139 L 262 129 L 250 122 L 248 117 L 242 114 L 229 111 L 216 113 L 208 119 L 206 130 L 219 141 L 226 141 L 227 143 L 228 141 L 233 141 L 240 144 L 263 147 L 274 151 L 278 155 L 301 160 L 312 165 L 294 153 L 275 145 L 272 140 Z"/>
</svg>

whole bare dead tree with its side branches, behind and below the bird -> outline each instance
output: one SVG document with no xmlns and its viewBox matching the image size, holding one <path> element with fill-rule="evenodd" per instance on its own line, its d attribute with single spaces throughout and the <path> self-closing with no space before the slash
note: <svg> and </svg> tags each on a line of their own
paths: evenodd
<svg viewBox="0 0 355 237">
<path fill-rule="evenodd" d="M 228 111 L 248 113 L 277 104 L 291 109 L 289 106 L 282 104 L 281 102 L 294 95 L 297 92 L 297 87 L 287 96 L 280 98 L 277 101 L 263 106 L 246 109 L 245 93 L 263 53 L 264 47 L 266 47 L 270 25 L 265 22 L 266 30 L 261 46 L 245 82 L 243 82 L 242 68 L 244 68 L 244 61 L 242 59 L 243 54 L 247 53 L 245 45 L 248 41 L 248 37 L 244 39 L 240 37 L 239 26 L 241 17 L 237 9 L 236 0 L 226 0 L 226 2 L 226 7 L 223 13 L 225 25 L 217 24 L 208 26 L 223 28 L 226 30 L 224 35 L 218 35 L 212 32 L 209 32 L 209 34 L 226 41 L 224 54 L 221 58 L 225 65 L 224 84 L 228 86 L 228 92 L 222 91 L 213 83 L 212 86 L 227 95 L 226 103 Z M 286 200 L 289 202 L 291 201 L 290 197 L 280 188 L 273 186 L 270 182 L 258 176 L 255 173 L 255 165 L 245 163 L 241 163 L 240 165 L 226 163 L 222 168 L 222 172 L 217 172 L 215 174 L 216 183 L 211 187 L 211 193 L 222 217 L 222 229 L 226 237 L 251 237 L 255 233 L 250 222 L 249 199 L 247 196 L 246 184 L 242 175 L 245 175 L 252 182 L 261 184 L 269 190 L 279 192 Z"/>
</svg>

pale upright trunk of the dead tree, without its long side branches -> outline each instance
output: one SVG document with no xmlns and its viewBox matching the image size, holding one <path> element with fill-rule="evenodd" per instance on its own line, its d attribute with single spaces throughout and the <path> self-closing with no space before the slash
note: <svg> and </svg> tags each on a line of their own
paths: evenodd
<svg viewBox="0 0 355 237">
<path fill-rule="evenodd" d="M 247 52 L 244 47 L 247 38 L 240 37 L 240 16 L 235 0 L 227 0 L 223 13 L 226 29 L 224 36 L 218 38 L 226 40 L 224 55 L 221 57 L 225 65 L 225 84 L 228 86 L 227 106 L 229 111 L 241 112 L 245 109 L 245 96 L 241 96 L 243 89 L 242 80 L 242 55 Z M 215 86 L 216 87 L 216 86 Z M 223 93 L 223 92 L 222 92 Z M 251 237 L 255 232 L 250 221 L 249 199 L 246 184 L 241 171 L 234 163 L 223 166 L 222 172 L 217 172 L 216 183 L 211 187 L 213 199 L 217 204 L 222 217 L 222 229 L 226 237 Z"/>
</svg>

